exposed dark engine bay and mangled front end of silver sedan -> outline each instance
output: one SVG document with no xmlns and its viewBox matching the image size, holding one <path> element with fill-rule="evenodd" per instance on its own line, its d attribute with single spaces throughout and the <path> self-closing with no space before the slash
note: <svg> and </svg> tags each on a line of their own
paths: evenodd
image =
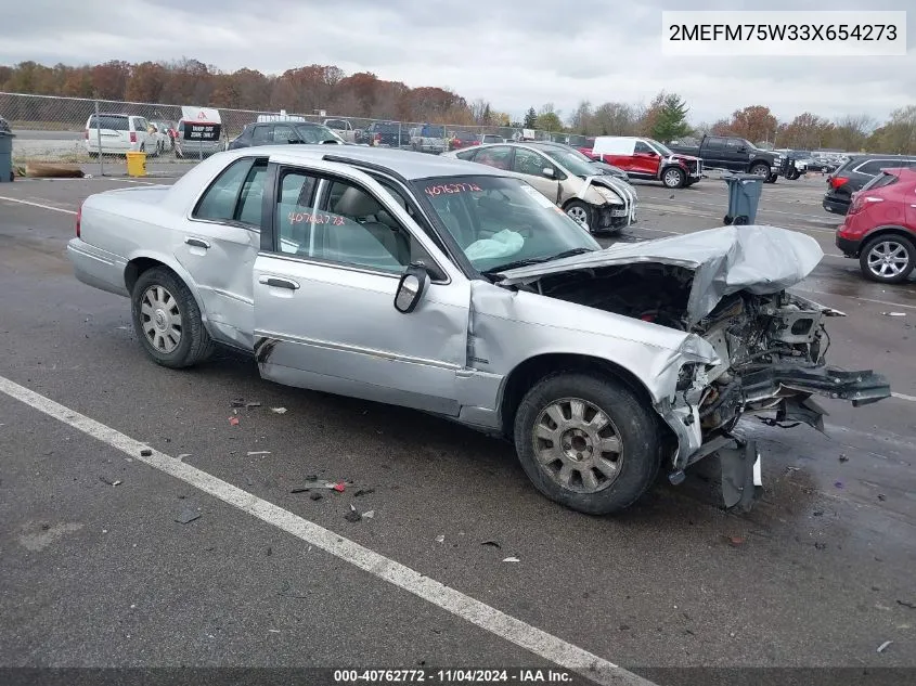
<svg viewBox="0 0 916 686">
<path fill-rule="evenodd" d="M 775 412 L 772 424 L 803 422 L 823 430 L 826 412 L 810 399 L 814 393 L 854 405 L 887 397 L 883 378 L 826 365 L 830 338 L 825 319 L 844 316 L 842 312 L 787 290 L 739 290 L 692 325 L 687 305 L 694 275 L 695 270 L 685 267 L 641 262 L 545 274 L 526 287 L 706 339 L 722 362 L 684 365 L 672 403 L 698 410 L 704 442 L 728 436 L 743 415 L 766 411 Z"/>
</svg>

